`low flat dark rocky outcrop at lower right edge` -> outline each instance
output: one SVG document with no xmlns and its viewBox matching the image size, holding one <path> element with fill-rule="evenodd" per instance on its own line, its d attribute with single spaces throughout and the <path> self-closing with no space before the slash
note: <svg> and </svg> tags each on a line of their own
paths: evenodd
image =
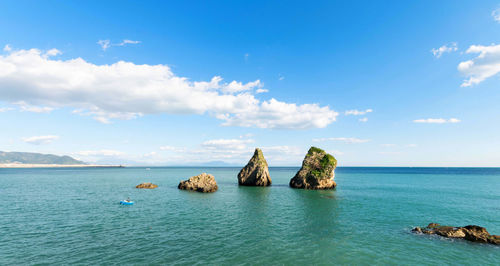
<svg viewBox="0 0 500 266">
<path fill-rule="evenodd" d="M 500 236 L 490 235 L 486 228 L 477 225 L 453 227 L 430 223 L 424 228 L 415 227 L 412 232 L 427 235 L 439 235 L 448 238 L 462 238 L 472 242 L 500 245 Z"/>
</svg>

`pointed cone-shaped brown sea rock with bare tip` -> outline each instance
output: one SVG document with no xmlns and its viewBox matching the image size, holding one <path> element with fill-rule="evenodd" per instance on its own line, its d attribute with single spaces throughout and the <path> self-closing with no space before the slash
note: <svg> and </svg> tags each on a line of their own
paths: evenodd
<svg viewBox="0 0 500 266">
<path fill-rule="evenodd" d="M 255 149 L 250 161 L 248 161 L 247 165 L 238 174 L 238 184 L 242 186 L 262 187 L 271 185 L 271 176 L 269 176 L 267 162 L 259 148 Z"/>
</svg>

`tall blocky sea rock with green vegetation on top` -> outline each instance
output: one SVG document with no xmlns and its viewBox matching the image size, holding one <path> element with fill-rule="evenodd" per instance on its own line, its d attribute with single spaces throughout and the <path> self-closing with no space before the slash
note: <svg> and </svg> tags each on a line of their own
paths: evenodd
<svg viewBox="0 0 500 266">
<path fill-rule="evenodd" d="M 324 150 L 311 147 L 302 161 L 302 167 L 290 180 L 290 186 L 303 189 L 333 189 L 337 183 L 335 168 L 337 160 Z"/>
</svg>

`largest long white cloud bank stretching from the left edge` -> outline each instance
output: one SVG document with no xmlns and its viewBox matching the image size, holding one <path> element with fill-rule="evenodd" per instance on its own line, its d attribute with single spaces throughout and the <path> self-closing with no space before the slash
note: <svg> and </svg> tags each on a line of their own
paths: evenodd
<svg viewBox="0 0 500 266">
<path fill-rule="evenodd" d="M 72 107 L 104 123 L 144 114 L 209 114 L 225 126 L 307 129 L 324 128 L 338 115 L 318 104 L 261 101 L 251 92 L 259 80 L 222 83 L 214 77 L 192 82 L 166 65 L 96 65 L 45 55 L 38 49 L 0 55 L 0 100 Z"/>
</svg>

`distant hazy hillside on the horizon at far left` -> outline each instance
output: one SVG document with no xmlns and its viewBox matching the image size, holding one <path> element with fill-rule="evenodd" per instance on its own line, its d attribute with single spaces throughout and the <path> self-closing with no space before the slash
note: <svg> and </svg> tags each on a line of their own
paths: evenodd
<svg viewBox="0 0 500 266">
<path fill-rule="evenodd" d="M 0 151 L 0 163 L 22 164 L 85 164 L 69 156 L 41 154 L 33 152 L 3 152 Z"/>
</svg>

